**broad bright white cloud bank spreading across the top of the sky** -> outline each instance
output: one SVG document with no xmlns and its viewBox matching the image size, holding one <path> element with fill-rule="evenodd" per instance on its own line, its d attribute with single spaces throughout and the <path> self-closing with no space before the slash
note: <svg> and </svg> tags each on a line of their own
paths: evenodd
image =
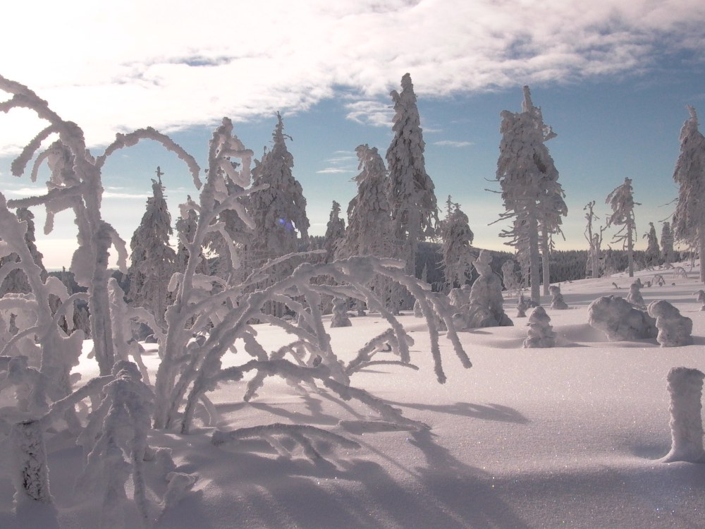
<svg viewBox="0 0 705 529">
<path fill-rule="evenodd" d="M 351 119 L 388 126 L 407 71 L 417 94 L 443 96 L 645 71 L 705 47 L 701 0 L 73 0 L 2 14 L 0 75 L 79 123 L 90 146 L 148 125 L 304 111 L 339 89 L 360 98 Z M 0 153 L 42 128 L 0 120 Z"/>
</svg>

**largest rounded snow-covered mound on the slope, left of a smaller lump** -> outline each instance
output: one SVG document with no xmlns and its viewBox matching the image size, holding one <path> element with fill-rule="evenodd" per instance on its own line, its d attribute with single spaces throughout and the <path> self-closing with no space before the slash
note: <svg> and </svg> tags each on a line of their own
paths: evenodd
<svg viewBox="0 0 705 529">
<path fill-rule="evenodd" d="M 602 296 L 590 303 L 588 323 L 610 341 L 656 338 L 656 320 L 619 296 Z"/>
</svg>

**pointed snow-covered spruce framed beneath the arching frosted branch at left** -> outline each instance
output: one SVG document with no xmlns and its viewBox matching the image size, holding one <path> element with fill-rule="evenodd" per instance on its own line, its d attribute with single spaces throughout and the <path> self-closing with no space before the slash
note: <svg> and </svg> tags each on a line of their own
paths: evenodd
<svg viewBox="0 0 705 529">
<path fill-rule="evenodd" d="M 171 214 L 166 206 L 164 186 L 157 167 L 157 180 L 152 179 L 152 196 L 130 241 L 130 290 L 128 298 L 135 307 L 151 310 L 157 322 L 164 322 L 169 303 L 168 283 L 176 271 L 176 252 L 169 245 Z"/>
</svg>

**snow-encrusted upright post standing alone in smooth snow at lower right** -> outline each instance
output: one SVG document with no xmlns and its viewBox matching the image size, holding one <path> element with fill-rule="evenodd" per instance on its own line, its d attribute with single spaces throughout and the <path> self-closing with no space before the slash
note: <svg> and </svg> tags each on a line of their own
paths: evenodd
<svg viewBox="0 0 705 529">
<path fill-rule="evenodd" d="M 689 367 L 673 367 L 668 372 L 670 394 L 670 451 L 661 461 L 705 463 L 701 418 L 705 375 Z"/>
</svg>

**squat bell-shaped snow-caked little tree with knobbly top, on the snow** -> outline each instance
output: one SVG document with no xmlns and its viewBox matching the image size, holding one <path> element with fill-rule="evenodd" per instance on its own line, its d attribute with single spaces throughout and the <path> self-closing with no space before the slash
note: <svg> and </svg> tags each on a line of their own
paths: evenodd
<svg viewBox="0 0 705 529">
<path fill-rule="evenodd" d="M 481 250 L 475 260 L 475 269 L 480 275 L 470 288 L 470 303 L 453 315 L 456 329 L 513 325 L 512 320 L 504 313 L 502 281 L 492 272 L 491 262 L 491 253 Z"/>
</svg>

